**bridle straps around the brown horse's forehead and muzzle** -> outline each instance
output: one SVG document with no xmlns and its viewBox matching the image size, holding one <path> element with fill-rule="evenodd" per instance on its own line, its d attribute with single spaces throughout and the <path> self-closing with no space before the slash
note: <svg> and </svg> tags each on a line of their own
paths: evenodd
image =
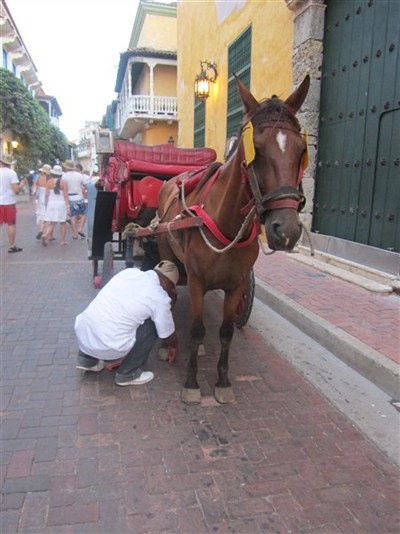
<svg viewBox="0 0 400 534">
<path fill-rule="evenodd" d="M 256 114 L 257 115 L 257 114 Z M 277 122 L 283 122 L 282 119 L 268 119 L 265 122 L 260 123 L 259 121 L 254 121 L 256 117 L 248 117 L 249 120 L 251 120 L 256 125 L 262 125 L 263 128 L 276 128 Z M 292 132 L 300 134 L 300 125 L 295 117 L 294 118 L 294 124 L 296 126 L 296 129 L 288 128 L 286 126 L 280 126 L 280 129 L 284 130 L 290 130 Z M 272 125 L 268 125 L 267 123 L 273 123 Z M 297 211 L 301 211 L 306 203 L 306 198 L 302 191 L 301 181 L 303 177 L 303 168 L 300 168 L 299 176 L 297 179 L 297 188 L 292 186 L 282 186 L 278 187 L 271 193 L 268 193 L 267 195 L 262 195 L 260 190 L 259 181 L 257 178 L 257 173 L 254 168 L 254 160 L 246 165 L 246 168 L 248 170 L 248 176 L 249 176 L 249 185 L 251 192 L 254 197 L 254 205 L 256 208 L 256 212 L 259 216 L 264 215 L 269 210 L 275 210 L 275 209 L 283 209 L 283 208 L 290 208 L 295 209 Z"/>
</svg>

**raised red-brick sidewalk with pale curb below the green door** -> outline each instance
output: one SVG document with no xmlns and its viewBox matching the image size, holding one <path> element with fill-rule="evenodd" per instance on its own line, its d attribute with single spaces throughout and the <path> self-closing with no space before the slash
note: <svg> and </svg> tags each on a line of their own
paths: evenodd
<svg viewBox="0 0 400 534">
<path fill-rule="evenodd" d="M 340 280 L 299 256 L 260 252 L 256 297 L 399 399 L 400 296 Z"/>
</svg>

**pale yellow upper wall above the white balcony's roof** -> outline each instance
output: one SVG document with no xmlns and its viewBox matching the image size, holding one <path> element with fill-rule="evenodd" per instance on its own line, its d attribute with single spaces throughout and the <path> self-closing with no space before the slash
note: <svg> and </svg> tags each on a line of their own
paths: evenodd
<svg viewBox="0 0 400 534">
<path fill-rule="evenodd" d="M 175 17 L 147 14 L 136 47 L 175 51 L 176 38 Z"/>
</svg>

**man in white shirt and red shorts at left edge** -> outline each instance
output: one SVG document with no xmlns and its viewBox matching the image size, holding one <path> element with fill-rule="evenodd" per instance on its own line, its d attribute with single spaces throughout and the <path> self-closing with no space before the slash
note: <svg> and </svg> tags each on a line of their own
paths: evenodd
<svg viewBox="0 0 400 534">
<path fill-rule="evenodd" d="M 17 224 L 17 193 L 23 190 L 26 180 L 18 179 L 12 169 L 15 164 L 10 154 L 0 156 L 0 224 L 7 225 L 8 252 L 22 252 L 21 247 L 15 245 Z"/>
</svg>

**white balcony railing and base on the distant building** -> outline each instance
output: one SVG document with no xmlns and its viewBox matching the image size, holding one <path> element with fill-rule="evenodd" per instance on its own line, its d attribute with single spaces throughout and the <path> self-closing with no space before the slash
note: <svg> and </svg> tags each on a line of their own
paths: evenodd
<svg viewBox="0 0 400 534">
<path fill-rule="evenodd" d="M 119 133 L 132 138 L 143 130 L 146 123 L 176 121 L 178 99 L 176 96 L 132 95 L 126 104 L 120 104 Z"/>
</svg>

